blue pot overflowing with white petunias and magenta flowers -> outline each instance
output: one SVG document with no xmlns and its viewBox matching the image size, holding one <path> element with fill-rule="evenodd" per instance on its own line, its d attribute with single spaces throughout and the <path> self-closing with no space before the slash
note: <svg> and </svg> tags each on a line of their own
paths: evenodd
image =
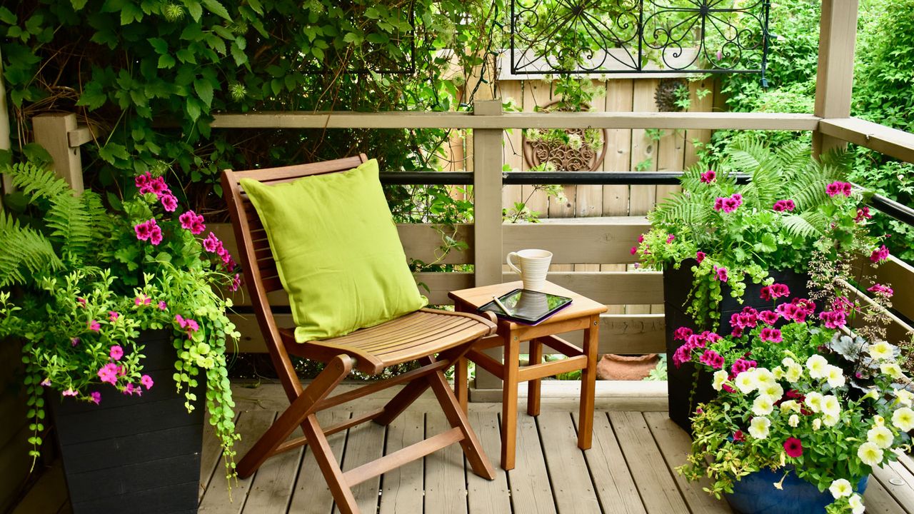
<svg viewBox="0 0 914 514">
<path fill-rule="evenodd" d="M 883 338 L 892 289 L 874 285 L 876 303 L 861 306 L 848 299 L 848 269 L 822 257 L 813 255 L 814 299 L 789 301 L 787 287 L 772 284 L 780 294 L 770 308 L 747 308 L 727 337 L 676 330 L 675 366 L 713 373 L 717 391 L 692 418 L 679 471 L 709 478 L 706 490 L 738 512 L 860 514 L 872 468 L 909 447 L 914 393 L 900 350 Z"/>
</svg>

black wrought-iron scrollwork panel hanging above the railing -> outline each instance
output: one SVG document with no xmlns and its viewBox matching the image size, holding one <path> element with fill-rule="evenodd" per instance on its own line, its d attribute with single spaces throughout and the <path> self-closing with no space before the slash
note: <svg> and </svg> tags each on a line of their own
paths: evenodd
<svg viewBox="0 0 914 514">
<path fill-rule="evenodd" d="M 770 0 L 512 0 L 515 75 L 761 73 Z"/>
</svg>

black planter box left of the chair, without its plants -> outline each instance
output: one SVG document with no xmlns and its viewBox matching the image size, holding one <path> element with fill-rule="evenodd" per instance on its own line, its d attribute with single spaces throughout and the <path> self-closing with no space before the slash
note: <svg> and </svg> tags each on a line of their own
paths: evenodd
<svg viewBox="0 0 914 514">
<path fill-rule="evenodd" d="M 188 413 L 172 379 L 171 333 L 147 331 L 139 341 L 143 373 L 154 380 L 143 396 L 105 384 L 99 405 L 56 391 L 49 402 L 74 514 L 197 512 L 206 379 Z"/>
</svg>

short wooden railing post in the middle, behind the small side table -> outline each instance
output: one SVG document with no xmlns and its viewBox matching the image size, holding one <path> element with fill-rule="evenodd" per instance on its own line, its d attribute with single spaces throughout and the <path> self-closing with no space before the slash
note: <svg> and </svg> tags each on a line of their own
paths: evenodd
<svg viewBox="0 0 914 514">
<path fill-rule="evenodd" d="M 473 102 L 473 114 L 500 116 L 501 100 Z M 473 255 L 475 284 L 502 282 L 502 130 L 473 130 Z M 497 352 L 495 354 L 494 352 Z M 501 348 L 493 357 L 501 358 Z M 478 389 L 500 387 L 500 381 L 484 369 L 476 368 Z"/>
</svg>

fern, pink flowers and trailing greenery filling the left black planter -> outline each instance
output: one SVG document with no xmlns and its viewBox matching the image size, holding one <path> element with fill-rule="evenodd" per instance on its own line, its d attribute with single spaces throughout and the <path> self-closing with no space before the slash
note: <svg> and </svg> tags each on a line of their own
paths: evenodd
<svg viewBox="0 0 914 514">
<path fill-rule="evenodd" d="M 206 405 L 234 475 L 234 412 L 227 345 L 239 333 L 226 316 L 237 289 L 235 263 L 203 218 L 178 216 L 178 202 L 156 166 L 135 179 L 117 209 L 92 191 L 77 195 L 47 167 L 5 166 L 25 200 L 0 212 L 0 337 L 23 340 L 30 455 L 38 456 L 46 390 L 101 403 L 109 394 L 139 395 L 165 377 L 143 372 L 143 330 L 174 334 L 171 380 L 189 411 Z M 197 398 L 199 383 L 206 397 Z M 34 461 L 33 461 L 34 462 Z"/>
</svg>

